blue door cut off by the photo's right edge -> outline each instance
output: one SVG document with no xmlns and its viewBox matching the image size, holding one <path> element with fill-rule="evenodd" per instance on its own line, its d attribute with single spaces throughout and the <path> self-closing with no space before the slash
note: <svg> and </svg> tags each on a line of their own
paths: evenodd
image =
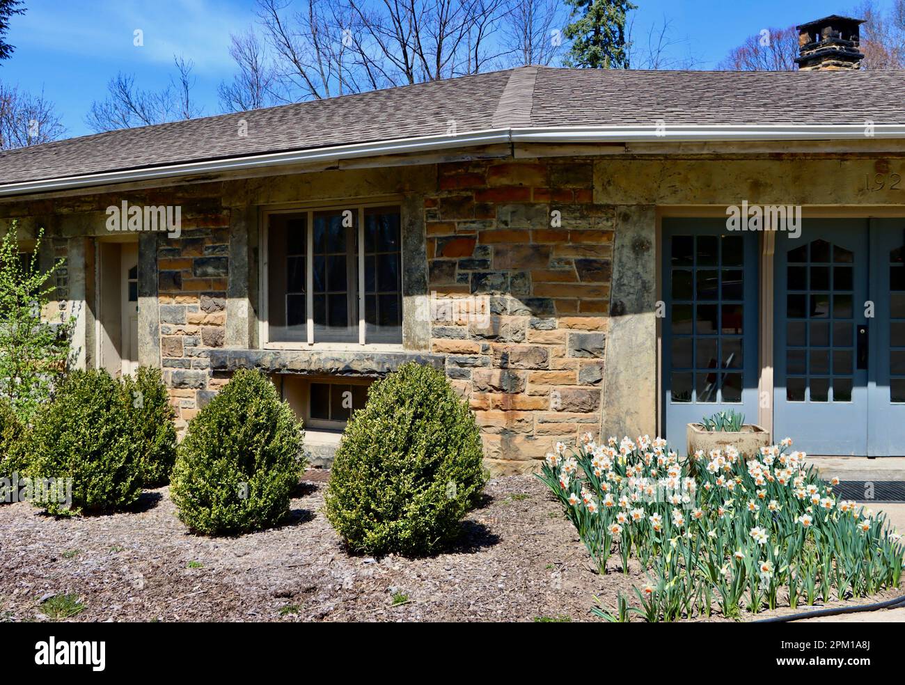
<svg viewBox="0 0 905 685">
<path fill-rule="evenodd" d="M 872 219 L 868 451 L 905 455 L 905 219 Z"/>
</svg>

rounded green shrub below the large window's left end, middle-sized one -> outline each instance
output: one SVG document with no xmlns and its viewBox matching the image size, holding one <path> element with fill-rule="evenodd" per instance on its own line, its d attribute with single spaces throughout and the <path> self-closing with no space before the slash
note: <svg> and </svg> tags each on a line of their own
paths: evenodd
<svg viewBox="0 0 905 685">
<path fill-rule="evenodd" d="M 305 467 L 302 428 L 259 371 L 240 370 L 188 424 L 173 469 L 179 519 L 198 533 L 269 528 Z"/>
</svg>

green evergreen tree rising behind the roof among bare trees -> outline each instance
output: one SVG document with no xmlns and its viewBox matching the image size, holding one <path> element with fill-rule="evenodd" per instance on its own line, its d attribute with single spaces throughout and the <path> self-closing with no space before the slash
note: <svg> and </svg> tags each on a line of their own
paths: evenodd
<svg viewBox="0 0 905 685">
<path fill-rule="evenodd" d="M 566 0 L 572 8 L 563 34 L 572 41 L 570 67 L 628 69 L 625 15 L 637 9 L 628 0 Z"/>
</svg>

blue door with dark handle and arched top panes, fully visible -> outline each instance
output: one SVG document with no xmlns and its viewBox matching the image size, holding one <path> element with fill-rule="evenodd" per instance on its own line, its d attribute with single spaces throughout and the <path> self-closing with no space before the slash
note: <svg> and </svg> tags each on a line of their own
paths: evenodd
<svg viewBox="0 0 905 685">
<path fill-rule="evenodd" d="M 776 234 L 774 439 L 811 454 L 868 453 L 868 228 L 815 219 Z"/>
</svg>

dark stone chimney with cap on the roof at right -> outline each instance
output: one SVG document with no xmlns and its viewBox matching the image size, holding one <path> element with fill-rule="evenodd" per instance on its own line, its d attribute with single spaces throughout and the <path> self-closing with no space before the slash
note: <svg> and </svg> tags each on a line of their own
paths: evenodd
<svg viewBox="0 0 905 685">
<path fill-rule="evenodd" d="M 832 16 L 795 26 L 798 30 L 798 58 L 801 71 L 857 70 L 864 55 L 858 49 L 859 26 L 863 19 Z"/>
</svg>

